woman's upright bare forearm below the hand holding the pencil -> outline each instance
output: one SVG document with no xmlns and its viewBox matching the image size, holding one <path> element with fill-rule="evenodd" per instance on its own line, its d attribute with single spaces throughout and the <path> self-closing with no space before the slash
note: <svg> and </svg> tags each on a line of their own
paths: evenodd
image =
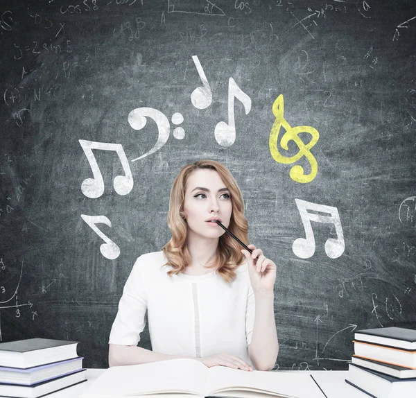
<svg viewBox="0 0 416 398">
<path fill-rule="evenodd" d="M 277 340 L 274 293 L 273 291 L 254 291 L 255 315 L 252 340 L 248 354 L 257 370 L 272 370 L 279 353 Z"/>
</svg>

